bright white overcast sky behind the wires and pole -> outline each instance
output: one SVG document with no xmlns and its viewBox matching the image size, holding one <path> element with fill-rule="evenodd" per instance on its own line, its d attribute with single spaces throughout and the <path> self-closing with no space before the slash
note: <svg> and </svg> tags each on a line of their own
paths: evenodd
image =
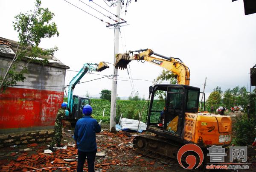
<svg viewBox="0 0 256 172">
<path fill-rule="evenodd" d="M 68 0 L 79 8 L 108 20 L 79 0 Z M 125 0 L 126 2 L 127 0 Z M 107 16 L 116 12 L 104 0 L 83 0 Z M 12 21 L 19 12 L 33 9 L 35 0 L 0 0 L 0 37 L 18 41 Z M 109 4 L 110 5 L 110 4 Z M 53 21 L 58 26 L 59 37 L 43 39 L 40 47 L 59 50 L 55 56 L 70 70 L 80 70 L 84 63 L 113 63 L 114 30 L 106 23 L 71 6 L 64 0 L 42 0 L 55 14 Z M 131 0 L 127 14 L 122 9 L 121 17 L 129 25 L 121 28 L 119 53 L 126 50 L 150 48 L 158 54 L 174 56 L 190 68 L 190 85 L 200 87 L 207 77 L 207 95 L 220 86 L 223 91 L 237 85 L 250 89 L 250 68 L 256 63 L 256 14 L 244 15 L 243 0 Z M 111 22 L 113 23 L 113 22 Z M 98 74 L 110 75 L 113 66 Z M 148 96 L 148 87 L 162 68 L 150 63 L 131 62 L 130 68 L 134 89 L 140 96 Z M 96 73 L 96 72 L 94 72 Z M 129 96 L 132 88 L 127 70 L 118 71 L 118 96 Z M 76 72 L 67 71 L 66 84 Z M 131 77 L 130 76 L 130 77 Z M 102 76 L 86 74 L 81 82 Z M 126 80 L 126 81 L 121 81 Z M 77 85 L 74 93 L 97 95 L 102 89 L 111 90 L 111 80 L 104 78 Z M 255 87 L 252 87 L 252 89 Z"/>
</svg>

